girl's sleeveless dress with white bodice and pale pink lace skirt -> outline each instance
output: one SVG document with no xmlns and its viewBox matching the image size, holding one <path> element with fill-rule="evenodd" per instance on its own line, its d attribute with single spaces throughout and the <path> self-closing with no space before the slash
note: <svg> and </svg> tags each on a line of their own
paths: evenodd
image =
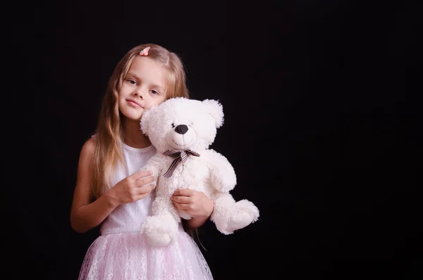
<svg viewBox="0 0 423 280">
<path fill-rule="evenodd" d="M 123 144 L 127 166 L 115 172 L 114 184 L 139 171 L 156 153 L 153 146 L 137 149 Z M 179 226 L 179 236 L 165 247 L 149 245 L 140 235 L 150 214 L 152 196 L 119 205 L 103 221 L 101 236 L 88 248 L 79 280 L 202 280 L 213 279 L 195 241 Z"/>
</svg>

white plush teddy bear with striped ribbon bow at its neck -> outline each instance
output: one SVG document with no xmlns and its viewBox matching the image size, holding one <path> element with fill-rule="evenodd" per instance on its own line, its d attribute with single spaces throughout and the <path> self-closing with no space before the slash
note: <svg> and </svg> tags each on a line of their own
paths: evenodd
<svg viewBox="0 0 423 280">
<path fill-rule="evenodd" d="M 213 200 L 210 219 L 223 234 L 257 221 L 259 209 L 248 200 L 236 202 L 229 193 L 236 185 L 233 166 L 209 149 L 222 124 L 223 106 L 214 99 L 174 97 L 142 114 L 140 129 L 157 150 L 142 168 L 156 178 L 152 212 L 140 231 L 147 243 L 168 245 L 178 234 L 180 218 L 192 218 L 171 202 L 178 188 L 201 191 Z"/>
</svg>

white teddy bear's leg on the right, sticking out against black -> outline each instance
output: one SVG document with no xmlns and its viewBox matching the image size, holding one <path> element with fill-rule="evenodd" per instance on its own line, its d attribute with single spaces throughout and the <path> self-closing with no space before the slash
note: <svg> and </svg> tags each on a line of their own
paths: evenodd
<svg viewBox="0 0 423 280">
<path fill-rule="evenodd" d="M 221 233 L 231 234 L 243 229 L 257 221 L 258 217 L 259 209 L 248 200 L 235 202 L 229 193 L 223 193 L 214 200 L 211 219 Z"/>
</svg>

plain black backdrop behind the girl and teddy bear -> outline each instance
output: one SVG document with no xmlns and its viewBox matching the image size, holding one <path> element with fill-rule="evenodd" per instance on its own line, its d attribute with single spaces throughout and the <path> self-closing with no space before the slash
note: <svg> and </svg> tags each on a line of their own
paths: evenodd
<svg viewBox="0 0 423 280">
<path fill-rule="evenodd" d="M 202 227 L 215 279 L 422 279 L 419 7 L 277 2 L 5 8 L 1 274 L 77 278 L 98 233 L 69 223 L 80 148 L 118 60 L 153 42 L 223 104 L 212 148 L 261 211 L 231 236 Z"/>
</svg>

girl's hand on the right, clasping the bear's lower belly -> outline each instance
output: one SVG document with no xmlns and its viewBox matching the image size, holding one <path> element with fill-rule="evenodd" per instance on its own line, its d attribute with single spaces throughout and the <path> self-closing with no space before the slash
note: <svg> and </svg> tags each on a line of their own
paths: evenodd
<svg viewBox="0 0 423 280">
<path fill-rule="evenodd" d="M 210 217 L 214 202 L 202 192 L 188 189 L 178 189 L 171 196 L 173 205 L 192 217 Z"/>
</svg>

